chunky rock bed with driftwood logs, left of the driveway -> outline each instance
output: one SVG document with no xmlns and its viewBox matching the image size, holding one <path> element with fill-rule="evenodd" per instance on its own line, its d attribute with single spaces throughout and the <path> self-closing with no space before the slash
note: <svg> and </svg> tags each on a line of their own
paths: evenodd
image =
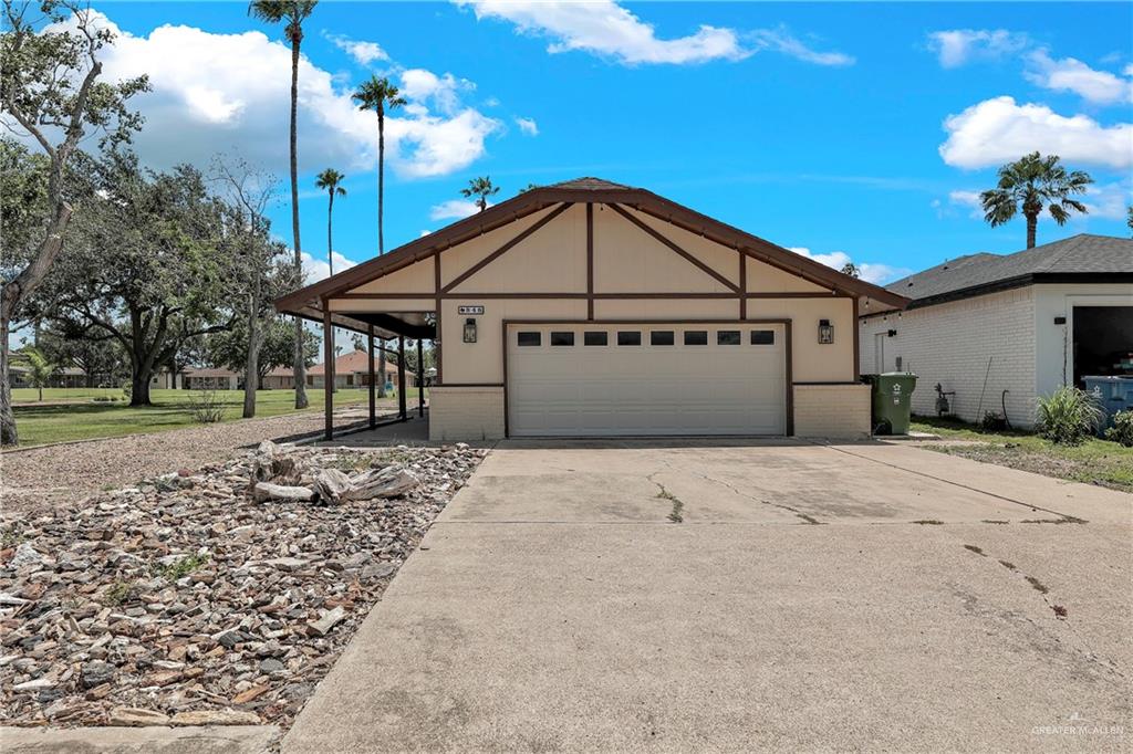
<svg viewBox="0 0 1133 754">
<path fill-rule="evenodd" d="M 0 722 L 283 727 L 486 451 L 264 443 L 0 513 Z"/>
</svg>

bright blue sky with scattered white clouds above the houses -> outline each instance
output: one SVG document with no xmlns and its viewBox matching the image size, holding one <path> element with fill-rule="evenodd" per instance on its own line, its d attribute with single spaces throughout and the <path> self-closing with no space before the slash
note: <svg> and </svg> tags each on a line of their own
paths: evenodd
<svg viewBox="0 0 1133 754">
<path fill-rule="evenodd" d="M 287 179 L 289 57 L 245 3 L 95 3 L 120 31 L 108 75 L 150 72 L 137 139 L 156 166 L 238 153 Z M 325 273 L 323 168 L 339 266 L 376 252 L 376 119 L 349 92 L 387 75 L 385 238 L 395 248 L 460 212 L 469 178 L 513 196 L 598 175 L 641 186 L 885 282 L 1024 245 L 973 192 L 1032 149 L 1097 180 L 1089 217 L 1039 240 L 1127 234 L 1133 3 L 327 2 L 306 22 L 303 248 Z M 448 204 L 446 204 L 448 203 Z M 290 242 L 286 195 L 272 209 Z"/>
</svg>

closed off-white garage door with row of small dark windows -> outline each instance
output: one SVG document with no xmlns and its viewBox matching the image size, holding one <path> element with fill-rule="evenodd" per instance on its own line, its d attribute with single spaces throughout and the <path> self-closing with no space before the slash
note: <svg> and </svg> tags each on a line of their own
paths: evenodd
<svg viewBox="0 0 1133 754">
<path fill-rule="evenodd" d="M 518 437 L 783 435 L 783 325 L 509 325 Z"/>
</svg>

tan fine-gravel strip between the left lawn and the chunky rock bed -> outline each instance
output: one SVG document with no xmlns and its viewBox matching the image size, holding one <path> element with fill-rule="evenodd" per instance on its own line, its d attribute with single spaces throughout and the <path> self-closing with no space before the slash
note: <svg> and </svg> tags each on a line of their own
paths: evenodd
<svg viewBox="0 0 1133 754">
<path fill-rule="evenodd" d="M 335 412 L 335 423 L 366 418 L 366 409 Z M 322 411 L 242 419 L 152 435 L 113 437 L 70 445 L 48 445 L 0 455 L 6 511 L 40 511 L 71 505 L 77 497 L 131 483 L 170 469 L 195 468 L 227 459 L 233 448 L 317 432 Z"/>
</svg>

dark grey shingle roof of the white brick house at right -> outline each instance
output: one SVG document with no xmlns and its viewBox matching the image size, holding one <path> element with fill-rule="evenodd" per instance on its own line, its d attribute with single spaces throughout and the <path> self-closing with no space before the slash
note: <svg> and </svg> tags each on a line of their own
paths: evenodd
<svg viewBox="0 0 1133 754">
<path fill-rule="evenodd" d="M 977 295 L 993 286 L 1006 288 L 1041 282 L 1043 276 L 1133 274 L 1133 240 L 1081 233 L 1015 254 L 972 254 L 949 259 L 936 267 L 903 277 L 886 288 L 913 299 L 913 306 L 929 299 Z"/>
</svg>

